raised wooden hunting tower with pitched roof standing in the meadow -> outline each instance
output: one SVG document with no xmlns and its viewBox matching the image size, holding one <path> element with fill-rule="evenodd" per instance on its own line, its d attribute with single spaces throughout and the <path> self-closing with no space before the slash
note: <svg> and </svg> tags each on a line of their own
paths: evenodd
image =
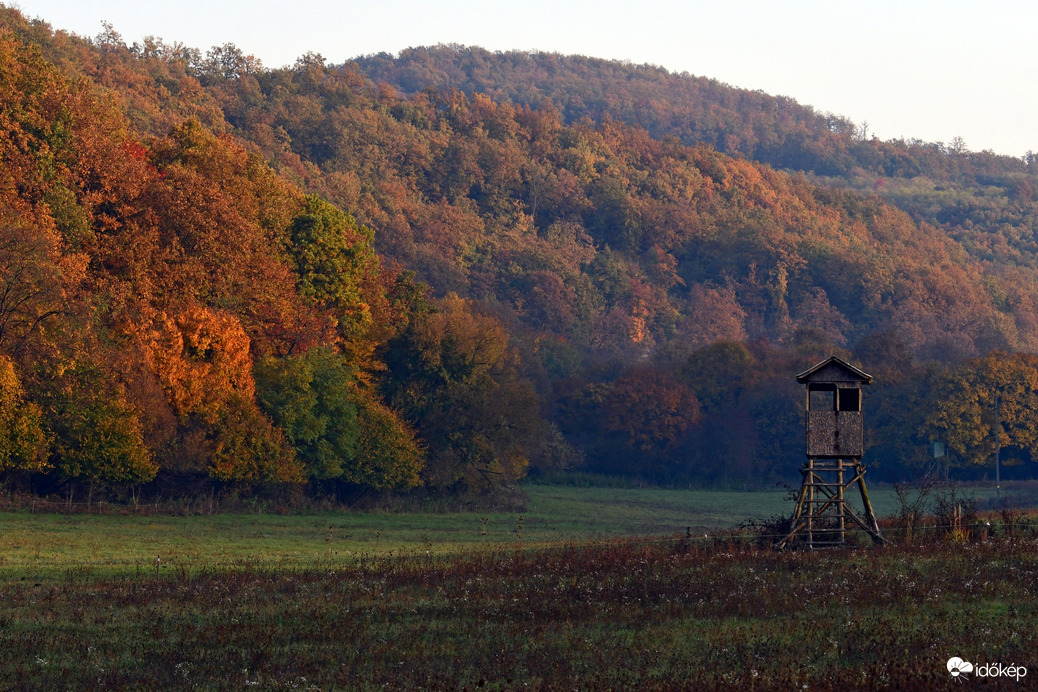
<svg viewBox="0 0 1038 692">
<path fill-rule="evenodd" d="M 808 461 L 800 469 L 803 480 L 790 531 L 775 547 L 785 548 L 801 532 L 811 549 L 844 546 L 847 520 L 882 543 L 862 465 L 862 385 L 872 384 L 872 376 L 832 356 L 796 381 L 807 387 Z M 845 493 L 855 485 L 865 519 L 847 506 Z"/>
</svg>

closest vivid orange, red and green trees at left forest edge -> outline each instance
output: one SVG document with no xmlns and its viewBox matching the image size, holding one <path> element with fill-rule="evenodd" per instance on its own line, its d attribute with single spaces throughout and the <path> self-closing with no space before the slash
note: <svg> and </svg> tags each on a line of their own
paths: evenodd
<svg viewBox="0 0 1038 692">
<path fill-rule="evenodd" d="M 492 316 L 430 302 L 383 266 L 367 227 L 194 113 L 147 135 L 11 31 L 0 81 L 2 467 L 45 472 L 43 489 L 189 493 L 473 490 L 491 471 L 523 472 L 537 402 L 512 384 L 514 350 Z M 427 409 L 511 387 L 502 405 L 530 408 L 527 421 L 484 445 L 442 412 L 434 425 L 426 409 L 394 407 L 385 358 L 441 352 L 481 369 L 431 378 Z"/>
</svg>

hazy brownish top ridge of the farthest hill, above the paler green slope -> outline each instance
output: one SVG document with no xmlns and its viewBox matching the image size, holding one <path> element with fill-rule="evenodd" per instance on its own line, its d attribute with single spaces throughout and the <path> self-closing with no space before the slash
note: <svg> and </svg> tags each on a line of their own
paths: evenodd
<svg viewBox="0 0 1038 692">
<path fill-rule="evenodd" d="M 459 89 L 519 107 L 550 104 L 568 123 L 584 118 L 618 120 L 644 128 L 655 139 L 708 144 L 730 156 L 819 175 L 925 175 L 977 185 L 985 178 L 1029 172 L 1035 163 L 1030 156 L 969 151 L 958 139 L 883 142 L 870 136 L 867 123 L 820 113 L 789 96 L 739 89 L 656 65 L 455 45 L 410 48 L 395 57 L 360 56 L 352 64 L 373 82 L 405 93 Z"/>
</svg>

